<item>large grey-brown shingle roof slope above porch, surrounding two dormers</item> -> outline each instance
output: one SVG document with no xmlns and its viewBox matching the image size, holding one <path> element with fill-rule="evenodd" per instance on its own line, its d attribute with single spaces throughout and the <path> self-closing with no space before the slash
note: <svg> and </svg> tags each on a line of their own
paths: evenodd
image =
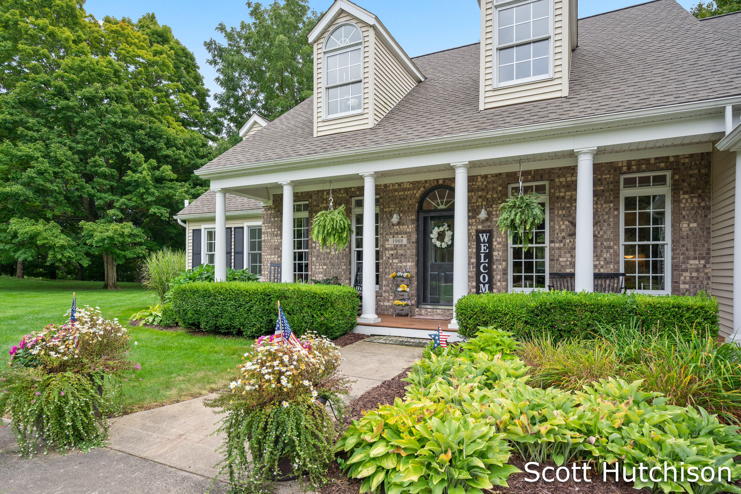
<svg viewBox="0 0 741 494">
<path fill-rule="evenodd" d="M 455 136 L 741 94 L 741 16 L 699 21 L 674 0 L 579 19 L 566 98 L 479 111 L 479 44 L 416 57 L 425 81 L 375 127 L 313 137 L 313 98 L 203 169 Z M 350 147 L 348 147 L 348 144 Z"/>
</svg>

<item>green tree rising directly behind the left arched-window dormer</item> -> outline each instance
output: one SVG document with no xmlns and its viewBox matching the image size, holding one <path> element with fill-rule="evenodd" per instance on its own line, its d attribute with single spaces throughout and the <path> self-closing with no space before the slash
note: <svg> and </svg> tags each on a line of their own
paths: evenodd
<svg viewBox="0 0 741 494">
<path fill-rule="evenodd" d="M 239 129 L 252 113 L 276 119 L 313 93 L 313 48 L 307 40 L 319 14 L 308 0 L 274 1 L 269 7 L 248 1 L 251 22 L 216 27 L 226 43 L 204 43 L 216 68 L 221 93 L 215 113 Z"/>
</svg>

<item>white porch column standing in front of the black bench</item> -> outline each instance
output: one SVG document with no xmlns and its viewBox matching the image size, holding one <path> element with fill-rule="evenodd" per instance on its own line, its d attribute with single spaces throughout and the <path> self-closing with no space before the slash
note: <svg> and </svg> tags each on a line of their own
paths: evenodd
<svg viewBox="0 0 741 494">
<path fill-rule="evenodd" d="M 574 290 L 594 291 L 594 188 L 592 162 L 596 147 L 574 150 L 576 155 L 576 241 Z"/>
</svg>

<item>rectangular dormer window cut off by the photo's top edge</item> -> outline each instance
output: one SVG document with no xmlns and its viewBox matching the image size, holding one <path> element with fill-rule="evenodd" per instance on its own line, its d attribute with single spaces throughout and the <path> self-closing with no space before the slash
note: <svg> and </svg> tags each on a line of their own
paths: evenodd
<svg viewBox="0 0 741 494">
<path fill-rule="evenodd" d="M 552 0 L 496 4 L 496 86 L 548 79 L 553 66 Z"/>
</svg>

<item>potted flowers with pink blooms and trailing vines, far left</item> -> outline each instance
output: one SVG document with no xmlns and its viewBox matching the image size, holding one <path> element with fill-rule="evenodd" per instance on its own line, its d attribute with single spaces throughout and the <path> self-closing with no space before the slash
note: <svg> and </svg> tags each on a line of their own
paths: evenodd
<svg viewBox="0 0 741 494">
<path fill-rule="evenodd" d="M 141 368 L 130 360 L 136 341 L 116 319 L 88 306 L 76 319 L 21 338 L 0 372 L 0 413 L 12 416 L 21 455 L 33 455 L 39 439 L 62 452 L 104 446 L 120 380 Z"/>
</svg>

